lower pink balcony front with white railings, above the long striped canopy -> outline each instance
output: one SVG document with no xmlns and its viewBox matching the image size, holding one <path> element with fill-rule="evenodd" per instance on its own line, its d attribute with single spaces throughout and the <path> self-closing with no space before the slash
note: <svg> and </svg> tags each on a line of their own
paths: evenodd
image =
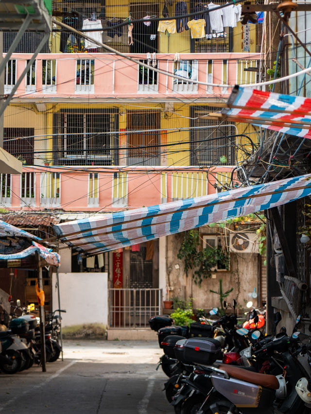
<svg viewBox="0 0 311 414">
<path fill-rule="evenodd" d="M 231 167 L 224 166 L 208 177 L 189 166 L 88 170 L 24 167 L 21 175 L 0 174 L 1 206 L 17 211 L 115 211 L 212 194 L 216 180 L 218 186 L 225 185 L 231 177 Z"/>
</svg>

